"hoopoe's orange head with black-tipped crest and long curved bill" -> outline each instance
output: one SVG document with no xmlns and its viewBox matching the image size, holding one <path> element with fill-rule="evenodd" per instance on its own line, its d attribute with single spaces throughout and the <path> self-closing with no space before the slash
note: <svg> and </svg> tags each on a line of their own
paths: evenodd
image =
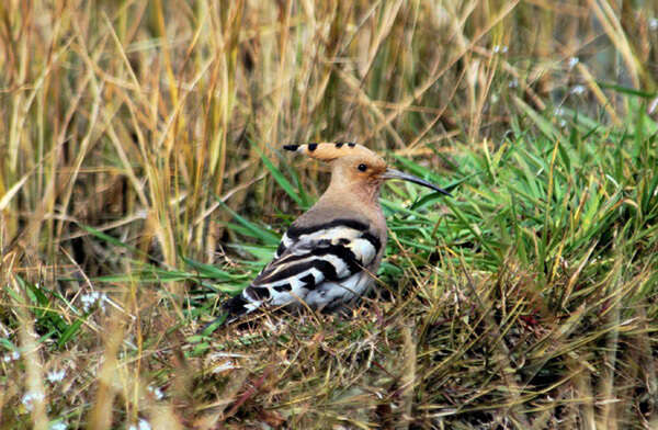
<svg viewBox="0 0 658 430">
<path fill-rule="evenodd" d="M 401 179 L 450 195 L 447 191 L 431 182 L 388 167 L 382 157 L 359 144 L 322 143 L 285 145 L 283 148 L 329 162 L 331 165 L 330 186 L 337 189 L 363 190 L 367 195 L 376 196 L 385 180 Z"/>
</svg>

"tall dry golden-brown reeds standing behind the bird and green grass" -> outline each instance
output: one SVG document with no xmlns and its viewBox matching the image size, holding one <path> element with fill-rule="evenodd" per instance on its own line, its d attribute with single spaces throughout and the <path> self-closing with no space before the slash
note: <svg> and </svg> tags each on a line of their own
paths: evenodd
<svg viewBox="0 0 658 430">
<path fill-rule="evenodd" d="M 261 154 L 287 166 L 285 143 L 356 140 L 447 177 L 442 160 L 462 146 L 497 147 L 512 121 L 527 126 L 519 106 L 620 124 L 628 100 L 615 87 L 656 87 L 653 2 L 8 1 L 0 12 L 3 250 L 70 265 L 66 250 L 91 274 L 126 260 L 80 225 L 175 267 L 177 247 L 212 262 L 227 240 L 216 197 L 268 224 L 296 213 L 263 176 Z M 311 195 L 317 176 L 305 169 Z"/>
</svg>

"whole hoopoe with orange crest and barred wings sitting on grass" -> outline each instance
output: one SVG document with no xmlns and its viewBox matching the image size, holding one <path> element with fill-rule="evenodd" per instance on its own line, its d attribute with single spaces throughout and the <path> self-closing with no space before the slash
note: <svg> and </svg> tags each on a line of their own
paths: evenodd
<svg viewBox="0 0 658 430">
<path fill-rule="evenodd" d="M 317 203 L 283 235 L 272 261 L 241 294 L 224 304 L 228 321 L 263 306 L 300 305 L 332 310 L 365 294 L 386 248 L 386 219 L 379 188 L 401 179 L 445 190 L 389 168 L 364 146 L 353 143 L 285 145 L 331 165 L 331 181 Z"/>
</svg>

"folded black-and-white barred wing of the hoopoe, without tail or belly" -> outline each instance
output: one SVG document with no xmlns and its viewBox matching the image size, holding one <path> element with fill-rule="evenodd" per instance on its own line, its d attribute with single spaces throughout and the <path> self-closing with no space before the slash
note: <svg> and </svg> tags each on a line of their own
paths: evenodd
<svg viewBox="0 0 658 430">
<path fill-rule="evenodd" d="M 344 281 L 371 264 L 382 247 L 367 225 L 334 219 L 316 226 L 292 226 L 274 259 L 242 292 L 246 312 L 304 299 L 322 282 Z M 241 301 L 241 302 L 242 302 Z"/>
</svg>

